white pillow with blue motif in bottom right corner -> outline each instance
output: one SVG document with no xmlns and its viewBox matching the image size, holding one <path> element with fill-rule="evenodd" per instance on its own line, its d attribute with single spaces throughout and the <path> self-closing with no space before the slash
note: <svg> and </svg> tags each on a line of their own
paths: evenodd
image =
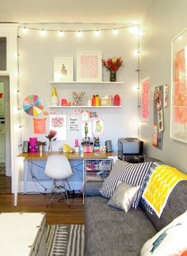
<svg viewBox="0 0 187 256">
<path fill-rule="evenodd" d="M 187 250 L 187 211 L 143 245 L 141 256 L 179 256 Z"/>
</svg>

